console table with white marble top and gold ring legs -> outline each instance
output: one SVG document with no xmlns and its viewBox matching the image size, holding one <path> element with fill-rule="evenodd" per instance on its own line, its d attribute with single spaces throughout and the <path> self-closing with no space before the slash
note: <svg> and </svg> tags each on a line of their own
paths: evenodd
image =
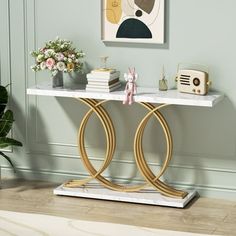
<svg viewBox="0 0 236 236">
<path fill-rule="evenodd" d="M 223 99 L 223 95 L 210 92 L 206 96 L 179 93 L 177 90 L 158 91 L 157 88 L 138 87 L 134 101 L 147 109 L 146 115 L 137 127 L 134 137 L 134 156 L 138 169 L 145 179 L 145 183 L 135 186 L 119 185 L 102 176 L 110 165 L 116 146 L 116 136 L 112 120 L 102 106 L 108 101 L 123 101 L 123 90 L 111 93 L 88 92 L 75 85 L 73 88 L 52 88 L 51 84 L 36 85 L 27 89 L 28 95 L 71 97 L 80 100 L 89 107 L 88 112 L 80 124 L 78 132 L 78 146 L 81 159 L 91 177 L 83 180 L 68 181 L 54 190 L 57 195 L 118 200 L 154 205 L 184 207 L 195 195 L 196 191 L 186 192 L 177 190 L 160 180 L 167 169 L 172 157 L 173 141 L 168 124 L 160 110 L 169 105 L 213 107 Z M 157 104 L 154 106 L 153 104 Z M 106 155 L 102 166 L 96 170 L 91 164 L 84 145 L 84 133 L 87 122 L 95 113 L 102 123 L 106 134 Z M 142 140 L 145 127 L 149 119 L 154 116 L 160 123 L 166 139 L 167 151 L 164 164 L 158 174 L 152 172 L 145 160 Z M 100 185 L 91 184 L 97 180 Z M 99 187 L 100 186 L 100 187 Z M 152 187 L 152 190 L 150 189 Z"/>
</svg>

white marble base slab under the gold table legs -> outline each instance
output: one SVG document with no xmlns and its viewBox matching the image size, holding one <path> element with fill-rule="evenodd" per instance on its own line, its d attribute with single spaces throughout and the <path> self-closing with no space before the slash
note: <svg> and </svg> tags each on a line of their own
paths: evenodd
<svg viewBox="0 0 236 236">
<path fill-rule="evenodd" d="M 121 202 L 141 203 L 158 206 L 184 208 L 196 195 L 196 190 L 188 191 L 184 199 L 165 197 L 153 189 L 144 189 L 140 192 L 116 192 L 97 184 L 88 184 L 79 188 L 66 188 L 62 185 L 55 188 L 55 195 L 112 200 Z"/>
</svg>

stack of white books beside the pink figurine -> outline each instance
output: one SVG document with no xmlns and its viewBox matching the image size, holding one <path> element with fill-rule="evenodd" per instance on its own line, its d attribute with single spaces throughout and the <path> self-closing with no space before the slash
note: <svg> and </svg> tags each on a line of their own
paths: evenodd
<svg viewBox="0 0 236 236">
<path fill-rule="evenodd" d="M 87 74 L 88 84 L 86 91 L 91 92 L 111 92 L 118 89 L 121 86 L 120 72 L 115 69 L 92 70 Z"/>
</svg>

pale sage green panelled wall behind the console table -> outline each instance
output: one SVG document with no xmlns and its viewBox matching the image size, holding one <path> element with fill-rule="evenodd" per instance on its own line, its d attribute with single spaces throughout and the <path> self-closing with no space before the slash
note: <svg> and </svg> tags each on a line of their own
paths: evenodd
<svg viewBox="0 0 236 236">
<path fill-rule="evenodd" d="M 166 0 L 164 45 L 104 44 L 98 0 L 1 0 L 0 80 L 11 83 L 15 111 L 13 135 L 24 148 L 8 151 L 20 177 L 61 182 L 87 176 L 77 150 L 77 127 L 87 108 L 69 98 L 27 96 L 26 88 L 49 80 L 33 73 L 29 52 L 56 36 L 72 40 L 86 53 L 86 70 L 99 65 L 99 56 L 124 73 L 134 66 L 139 86 L 157 87 L 162 65 L 174 86 L 179 62 L 208 65 L 212 89 L 226 98 L 214 108 L 170 106 L 163 110 L 174 138 L 174 155 L 164 178 L 178 188 L 196 188 L 202 196 L 236 196 L 236 2 L 235 0 Z M 73 83 L 67 78 L 68 83 Z M 117 133 L 115 161 L 105 176 L 140 181 L 133 161 L 132 141 L 145 110 L 138 105 L 106 105 Z M 138 115 L 137 115 L 138 114 Z M 128 130 L 128 132 L 127 132 Z M 93 117 L 86 130 L 86 147 L 95 166 L 101 164 L 105 135 Z M 163 133 L 152 120 L 144 151 L 156 172 L 165 152 Z M 1 160 L 3 175 L 12 174 Z"/>
</svg>

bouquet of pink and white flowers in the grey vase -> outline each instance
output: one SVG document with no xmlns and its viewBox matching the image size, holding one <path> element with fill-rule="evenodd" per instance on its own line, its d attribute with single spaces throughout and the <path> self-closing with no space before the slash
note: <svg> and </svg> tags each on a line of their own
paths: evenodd
<svg viewBox="0 0 236 236">
<path fill-rule="evenodd" d="M 83 63 L 81 58 L 85 56 L 82 51 L 77 51 L 72 42 L 57 37 L 46 42 L 43 48 L 32 51 L 31 55 L 36 59 L 33 71 L 50 70 L 52 75 L 61 72 L 81 71 Z"/>
</svg>

